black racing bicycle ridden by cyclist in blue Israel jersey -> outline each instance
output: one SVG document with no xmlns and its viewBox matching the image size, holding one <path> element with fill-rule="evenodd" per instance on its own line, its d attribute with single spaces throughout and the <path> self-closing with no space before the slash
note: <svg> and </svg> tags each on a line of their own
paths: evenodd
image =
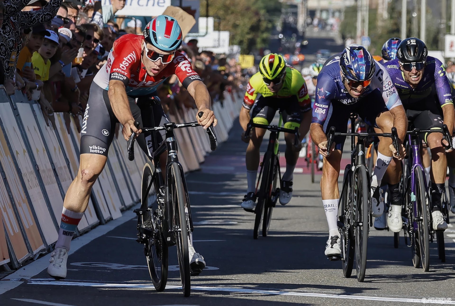
<svg viewBox="0 0 455 306">
<path fill-rule="evenodd" d="M 351 114 L 351 122 L 355 122 L 356 118 L 357 115 Z M 354 131 L 354 125 L 351 125 L 351 133 L 335 132 L 335 127 L 332 126 L 327 135 L 327 148 L 332 146 L 336 136 L 351 136 L 351 163 L 344 169 L 343 187 L 338 205 L 341 258 L 332 256 L 329 260 L 341 260 L 344 277 L 350 277 L 355 257 L 357 281 L 362 282 L 366 271 L 369 227 L 373 226 L 371 181 L 365 163 L 365 140 L 371 136 L 390 137 L 398 152 L 398 135 L 394 127 L 392 133 L 355 133 Z M 355 144 L 356 136 L 357 144 Z"/>
</svg>

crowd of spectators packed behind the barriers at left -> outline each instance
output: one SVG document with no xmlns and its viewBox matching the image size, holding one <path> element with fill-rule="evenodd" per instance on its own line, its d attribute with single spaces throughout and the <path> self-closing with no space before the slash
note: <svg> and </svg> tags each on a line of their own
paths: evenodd
<svg viewBox="0 0 455 306">
<path fill-rule="evenodd" d="M 106 6 L 93 0 L 0 0 L 0 84 L 8 95 L 21 90 L 29 100 L 38 101 L 48 125 L 55 125 L 56 111 L 65 113 L 68 127 L 71 115 L 80 126 L 92 80 L 114 41 L 127 33 L 142 34 L 142 23 L 115 19 L 124 5 L 125 0 L 111 0 Z M 235 59 L 199 52 L 197 40 L 182 44 L 182 50 L 212 100 L 222 102 L 224 90 L 239 90 L 245 82 Z M 175 76 L 165 80 L 158 95 L 166 111 L 182 104 L 194 107 Z"/>
</svg>

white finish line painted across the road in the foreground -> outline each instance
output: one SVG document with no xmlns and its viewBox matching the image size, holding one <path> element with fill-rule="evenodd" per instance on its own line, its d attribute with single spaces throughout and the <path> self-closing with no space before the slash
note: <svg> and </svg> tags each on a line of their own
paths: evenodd
<svg viewBox="0 0 455 306">
<path fill-rule="evenodd" d="M 116 284 L 116 283 L 94 283 L 84 281 L 56 281 L 51 278 L 38 279 L 32 278 L 27 282 L 27 285 L 55 285 L 55 286 L 84 286 L 84 287 L 109 287 L 109 288 L 137 288 L 137 289 L 152 289 L 155 288 L 150 284 Z M 182 286 L 166 286 L 166 289 L 179 290 Z M 283 296 L 310 296 L 322 297 L 332 299 L 348 299 L 348 300 L 367 300 L 367 301 L 389 301 L 389 302 L 405 302 L 405 303 L 429 303 L 430 298 L 412 299 L 400 298 L 389 296 L 357 296 L 350 294 L 336 294 L 336 293 L 313 293 L 313 292 L 299 292 L 299 291 L 278 291 L 278 290 L 260 290 L 248 288 L 231 288 L 231 287 L 212 287 L 212 286 L 191 286 L 192 290 L 198 291 L 223 291 L 223 292 L 236 292 L 236 293 L 253 293 L 253 294 L 266 294 L 266 295 L 283 295 Z M 433 298 L 431 298 L 433 299 Z M 454 301 L 447 301 L 448 299 L 441 298 L 439 304 L 455 305 Z"/>
</svg>

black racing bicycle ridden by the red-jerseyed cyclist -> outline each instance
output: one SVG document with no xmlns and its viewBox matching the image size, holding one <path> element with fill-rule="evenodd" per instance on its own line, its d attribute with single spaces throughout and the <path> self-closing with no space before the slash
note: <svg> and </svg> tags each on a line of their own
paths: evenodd
<svg viewBox="0 0 455 306">
<path fill-rule="evenodd" d="M 203 113 L 198 113 L 202 117 Z M 153 116 L 152 116 L 153 118 Z M 136 122 L 136 127 L 139 123 Z M 144 245 L 144 254 L 157 291 L 163 291 L 167 283 L 168 247 L 177 246 L 178 266 L 184 296 L 190 295 L 190 258 L 188 244 L 193 231 L 190 201 L 182 165 L 177 157 L 177 141 L 174 129 L 201 126 L 197 121 L 188 123 L 166 123 L 162 126 L 142 128 L 152 132 L 152 161 L 147 161 L 142 171 L 141 207 L 135 209 L 137 215 L 137 242 Z M 156 132 L 166 131 L 166 140 L 158 147 Z M 207 128 L 210 148 L 215 150 L 217 138 L 213 127 Z M 128 140 L 128 158 L 134 160 L 133 133 Z M 165 178 L 159 156 L 167 151 Z M 196 273 L 194 275 L 197 275 Z"/>
</svg>

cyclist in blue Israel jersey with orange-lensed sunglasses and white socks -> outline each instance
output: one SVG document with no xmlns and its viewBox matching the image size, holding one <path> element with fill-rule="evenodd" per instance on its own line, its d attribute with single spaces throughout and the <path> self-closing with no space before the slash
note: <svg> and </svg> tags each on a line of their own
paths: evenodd
<svg viewBox="0 0 455 306">
<path fill-rule="evenodd" d="M 384 67 L 361 45 L 349 45 L 325 63 L 318 75 L 313 106 L 311 137 L 324 156 L 321 193 L 329 225 L 329 240 L 324 253 L 329 257 L 341 255 L 337 226 L 338 177 L 346 137 L 335 137 L 334 145 L 327 148 L 326 133 L 331 126 L 345 132 L 349 114 L 353 112 L 358 113 L 365 123 L 374 126 L 378 132 L 390 132 L 395 126 L 400 140 L 404 139 L 406 114 L 395 87 Z M 330 156 L 327 156 L 328 150 L 331 150 Z M 379 142 L 378 151 L 371 181 L 373 216 L 380 216 L 383 212 L 384 198 L 378 186 L 392 160 L 392 154 L 399 156 L 399 159 L 404 156 L 403 146 L 400 145 L 399 152 L 396 152 L 389 138 Z M 395 169 L 389 169 L 388 176 L 389 180 L 399 181 Z"/>
</svg>

